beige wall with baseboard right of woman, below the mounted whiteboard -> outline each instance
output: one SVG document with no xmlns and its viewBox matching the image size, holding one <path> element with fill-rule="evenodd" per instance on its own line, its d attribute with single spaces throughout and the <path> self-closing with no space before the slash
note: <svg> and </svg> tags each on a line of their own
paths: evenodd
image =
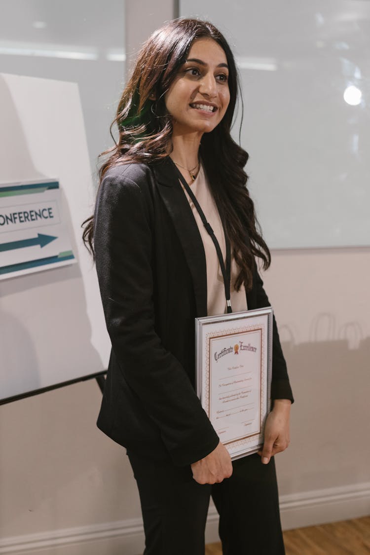
<svg viewBox="0 0 370 555">
<path fill-rule="evenodd" d="M 370 249 L 323 249 L 274 253 L 265 275 L 296 400 L 277 457 L 287 527 L 370 511 L 369 271 Z"/>
</svg>

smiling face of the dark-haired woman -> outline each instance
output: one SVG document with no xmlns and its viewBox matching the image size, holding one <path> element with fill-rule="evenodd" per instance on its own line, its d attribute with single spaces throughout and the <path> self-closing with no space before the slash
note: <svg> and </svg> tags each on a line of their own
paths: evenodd
<svg viewBox="0 0 370 555">
<path fill-rule="evenodd" d="M 209 133 L 220 123 L 230 102 L 226 54 L 216 41 L 192 43 L 185 63 L 165 94 L 174 134 Z"/>
</svg>

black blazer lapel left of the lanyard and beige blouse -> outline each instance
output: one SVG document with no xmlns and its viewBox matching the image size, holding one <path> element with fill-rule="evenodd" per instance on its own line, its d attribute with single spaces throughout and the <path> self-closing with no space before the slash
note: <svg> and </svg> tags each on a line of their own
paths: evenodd
<svg viewBox="0 0 370 555">
<path fill-rule="evenodd" d="M 207 269 L 203 242 L 189 202 L 168 157 L 152 166 L 159 194 L 173 221 L 194 285 L 197 316 L 207 315 Z M 181 294 L 181 292 L 179 292 Z"/>
</svg>

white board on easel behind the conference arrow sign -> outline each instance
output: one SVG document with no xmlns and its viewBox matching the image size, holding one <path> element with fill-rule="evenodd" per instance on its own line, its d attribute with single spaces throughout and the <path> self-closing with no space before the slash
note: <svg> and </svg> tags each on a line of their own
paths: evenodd
<svg viewBox="0 0 370 555">
<path fill-rule="evenodd" d="M 0 182 L 59 180 L 78 263 L 0 282 L 0 400 L 107 368 L 110 341 L 80 225 L 94 192 L 78 87 L 0 74 Z"/>
</svg>

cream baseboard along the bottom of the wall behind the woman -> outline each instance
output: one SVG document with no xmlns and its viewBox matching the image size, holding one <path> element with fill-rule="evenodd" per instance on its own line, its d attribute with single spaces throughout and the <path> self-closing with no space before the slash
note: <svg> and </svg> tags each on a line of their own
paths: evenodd
<svg viewBox="0 0 370 555">
<path fill-rule="evenodd" d="M 283 529 L 366 516 L 370 513 L 370 482 L 281 496 L 280 511 Z M 211 506 L 207 518 L 207 543 L 218 541 L 217 526 L 218 514 Z M 99 555 L 109 552 L 109 548 L 103 551 L 102 547 L 112 542 L 119 542 L 121 553 L 135 555 L 142 552 L 144 532 L 141 518 L 4 538 L 0 540 L 0 554 L 82 554 L 82 544 L 86 543 L 87 555 Z"/>
</svg>

